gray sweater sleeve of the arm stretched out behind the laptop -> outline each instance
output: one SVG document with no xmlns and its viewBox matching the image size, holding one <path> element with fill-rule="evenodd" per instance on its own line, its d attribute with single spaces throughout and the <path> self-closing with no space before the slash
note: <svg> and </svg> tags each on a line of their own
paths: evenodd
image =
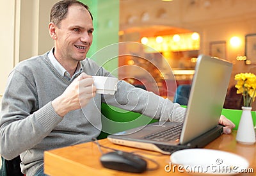
<svg viewBox="0 0 256 176">
<path fill-rule="evenodd" d="M 125 81 L 119 81 L 115 96 L 104 95 L 106 103 L 118 108 L 134 111 L 159 121 L 183 122 L 186 108 L 164 99 L 153 92 L 136 88 Z"/>
</svg>

